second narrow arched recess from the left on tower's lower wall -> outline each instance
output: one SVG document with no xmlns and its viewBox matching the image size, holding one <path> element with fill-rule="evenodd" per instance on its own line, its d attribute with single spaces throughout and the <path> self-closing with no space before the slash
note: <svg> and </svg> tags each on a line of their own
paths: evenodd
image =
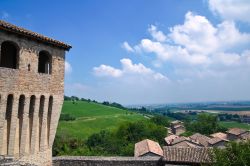
<svg viewBox="0 0 250 166">
<path fill-rule="evenodd" d="M 24 113 L 24 105 L 25 105 L 25 96 L 21 95 L 19 98 L 19 104 L 18 104 L 18 131 L 19 131 L 19 152 L 21 148 L 21 138 L 22 138 L 22 127 L 23 127 L 23 113 Z"/>
</svg>

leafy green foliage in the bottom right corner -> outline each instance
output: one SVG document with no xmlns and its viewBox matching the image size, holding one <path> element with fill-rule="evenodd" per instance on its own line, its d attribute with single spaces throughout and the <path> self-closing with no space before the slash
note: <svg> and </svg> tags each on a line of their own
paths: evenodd
<svg viewBox="0 0 250 166">
<path fill-rule="evenodd" d="M 225 149 L 214 150 L 214 166 L 238 166 L 250 163 L 250 141 L 231 142 Z"/>
</svg>

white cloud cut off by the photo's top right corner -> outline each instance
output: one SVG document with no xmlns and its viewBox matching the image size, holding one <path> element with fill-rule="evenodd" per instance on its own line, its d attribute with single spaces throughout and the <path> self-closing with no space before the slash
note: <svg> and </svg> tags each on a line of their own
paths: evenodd
<svg viewBox="0 0 250 166">
<path fill-rule="evenodd" d="M 208 0 L 209 8 L 226 20 L 239 20 L 250 23 L 249 0 Z"/>
</svg>

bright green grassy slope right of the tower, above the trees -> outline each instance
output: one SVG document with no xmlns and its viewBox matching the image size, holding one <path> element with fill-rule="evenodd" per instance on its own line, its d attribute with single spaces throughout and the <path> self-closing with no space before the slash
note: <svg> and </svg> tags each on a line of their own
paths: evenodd
<svg viewBox="0 0 250 166">
<path fill-rule="evenodd" d="M 141 114 L 85 101 L 78 101 L 76 104 L 65 101 L 62 113 L 70 114 L 76 117 L 76 120 L 60 121 L 57 134 L 81 139 L 86 139 L 102 129 L 115 129 L 125 121 L 133 122 L 145 119 Z"/>
</svg>

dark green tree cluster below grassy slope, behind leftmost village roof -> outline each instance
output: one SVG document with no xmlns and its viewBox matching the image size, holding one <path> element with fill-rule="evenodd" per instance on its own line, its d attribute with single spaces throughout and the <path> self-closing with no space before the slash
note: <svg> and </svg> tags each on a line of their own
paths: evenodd
<svg viewBox="0 0 250 166">
<path fill-rule="evenodd" d="M 148 120 L 123 123 L 113 132 L 101 131 L 91 135 L 86 144 L 91 154 L 133 156 L 134 144 L 146 138 L 163 143 L 166 129 Z"/>
</svg>

